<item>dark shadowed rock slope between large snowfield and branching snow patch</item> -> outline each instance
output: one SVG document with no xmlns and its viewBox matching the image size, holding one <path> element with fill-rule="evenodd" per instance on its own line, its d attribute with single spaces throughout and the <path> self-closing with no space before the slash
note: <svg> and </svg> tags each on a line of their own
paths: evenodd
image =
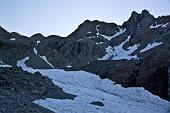
<svg viewBox="0 0 170 113">
<path fill-rule="evenodd" d="M 143 61 L 121 60 L 92 62 L 81 69 L 124 87 L 144 87 L 151 93 L 168 99 L 168 66 L 153 67 L 146 66 Z"/>
</svg>

